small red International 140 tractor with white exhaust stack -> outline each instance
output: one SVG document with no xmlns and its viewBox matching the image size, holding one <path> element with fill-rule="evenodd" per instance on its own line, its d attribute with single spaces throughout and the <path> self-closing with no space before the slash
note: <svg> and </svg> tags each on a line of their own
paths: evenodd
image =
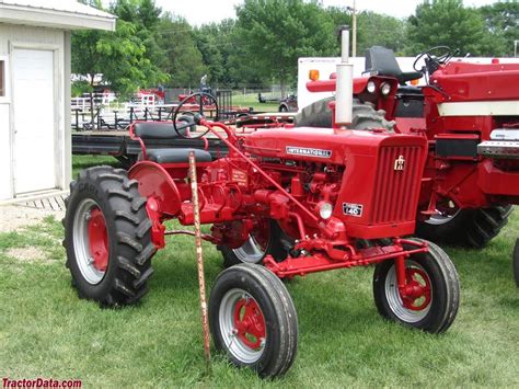
<svg viewBox="0 0 519 389">
<path fill-rule="evenodd" d="M 315 272 L 374 265 L 373 297 L 382 317 L 446 331 L 459 305 L 454 266 L 437 245 L 403 238 L 415 228 L 427 139 L 381 127 L 346 129 L 358 122 L 351 117 L 346 36 L 335 128 L 238 134 L 196 114 L 196 124 L 229 147 L 227 157 L 212 161 L 201 148 L 147 149 L 150 137 L 175 136 L 174 128 L 182 135 L 192 124 L 176 117 L 162 129 L 136 123 L 130 131 L 142 146 L 139 162 L 128 171 L 81 171 L 65 220 L 67 266 L 80 297 L 109 307 L 137 302 L 165 237 L 193 234 L 166 231 L 164 221 L 192 226 L 199 210 L 201 224 L 212 225 L 201 238 L 219 247 L 228 266 L 211 288 L 212 340 L 237 366 L 263 377 L 287 371 L 298 320 L 281 279 Z M 188 180 L 191 152 L 198 207 Z"/>
</svg>

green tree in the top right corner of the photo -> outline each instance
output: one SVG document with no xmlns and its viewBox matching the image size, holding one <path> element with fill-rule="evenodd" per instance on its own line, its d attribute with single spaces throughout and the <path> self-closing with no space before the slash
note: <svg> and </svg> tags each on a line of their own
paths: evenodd
<svg viewBox="0 0 519 389">
<path fill-rule="evenodd" d="M 478 9 L 492 34 L 493 56 L 514 56 L 514 42 L 519 39 L 519 2 L 500 1 Z"/>
</svg>

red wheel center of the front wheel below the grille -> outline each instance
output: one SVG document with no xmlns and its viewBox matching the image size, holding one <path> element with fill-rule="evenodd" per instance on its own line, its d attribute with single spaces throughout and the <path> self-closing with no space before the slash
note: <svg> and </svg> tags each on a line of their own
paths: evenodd
<svg viewBox="0 0 519 389">
<path fill-rule="evenodd" d="M 405 308 L 420 311 L 430 304 L 430 279 L 426 272 L 417 267 L 405 268 L 405 296 L 402 302 Z"/>
</svg>

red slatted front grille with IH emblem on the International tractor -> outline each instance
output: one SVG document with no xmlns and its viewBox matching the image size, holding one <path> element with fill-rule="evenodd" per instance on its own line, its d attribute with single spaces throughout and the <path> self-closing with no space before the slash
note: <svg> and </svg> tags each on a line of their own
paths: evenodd
<svg viewBox="0 0 519 389">
<path fill-rule="evenodd" d="M 420 147 L 382 147 L 379 152 L 371 222 L 414 220 L 422 173 Z"/>
</svg>

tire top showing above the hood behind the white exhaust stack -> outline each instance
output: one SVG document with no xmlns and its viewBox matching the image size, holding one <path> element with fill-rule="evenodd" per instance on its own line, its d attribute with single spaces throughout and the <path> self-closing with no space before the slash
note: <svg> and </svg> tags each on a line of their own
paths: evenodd
<svg viewBox="0 0 519 389">
<path fill-rule="evenodd" d="M 326 98 L 302 108 L 293 119 L 296 127 L 332 128 L 332 110 L 330 110 L 328 103 L 333 100 L 334 98 Z M 387 121 L 384 116 L 384 111 L 376 111 L 371 104 L 361 103 L 358 99 L 354 99 L 353 123 L 349 128 L 385 128 L 392 131 L 394 122 Z"/>
</svg>

